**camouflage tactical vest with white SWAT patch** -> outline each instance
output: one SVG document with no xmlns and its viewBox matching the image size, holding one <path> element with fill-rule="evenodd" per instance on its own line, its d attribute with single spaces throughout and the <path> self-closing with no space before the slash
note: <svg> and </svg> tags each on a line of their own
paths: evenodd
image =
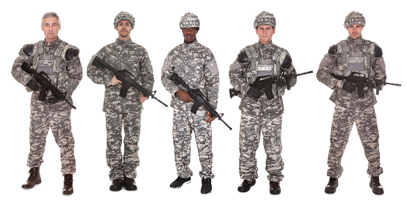
<svg viewBox="0 0 407 206">
<path fill-rule="evenodd" d="M 245 52 L 250 59 L 250 69 L 243 74 L 243 79 L 245 79 L 247 84 L 253 84 L 257 77 L 278 77 L 282 74 L 284 68 L 282 68 L 281 65 L 288 54 L 285 49 L 275 45 L 275 49 L 270 55 L 271 58 L 266 58 L 266 55 L 261 54 L 262 52 L 259 47 L 259 42 L 257 42 L 254 45 L 246 47 Z M 272 84 L 272 94 L 284 95 L 284 89 Z"/>
</svg>

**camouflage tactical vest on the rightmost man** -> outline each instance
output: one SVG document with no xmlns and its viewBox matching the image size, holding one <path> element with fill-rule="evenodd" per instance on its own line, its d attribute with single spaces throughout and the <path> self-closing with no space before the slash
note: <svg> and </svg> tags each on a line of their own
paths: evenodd
<svg viewBox="0 0 407 206">
<path fill-rule="evenodd" d="M 362 48 L 352 51 L 348 41 L 342 40 L 337 44 L 337 54 L 341 54 L 341 57 L 337 59 L 337 65 L 332 73 L 348 77 L 352 72 L 358 72 L 359 76 L 373 78 L 374 71 L 370 58 L 374 55 L 374 48 L 373 42 L 363 40 Z"/>
</svg>

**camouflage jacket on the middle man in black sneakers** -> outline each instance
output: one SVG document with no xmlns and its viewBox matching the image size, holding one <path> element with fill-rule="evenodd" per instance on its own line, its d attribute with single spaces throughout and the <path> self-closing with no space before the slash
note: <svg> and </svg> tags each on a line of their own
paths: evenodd
<svg viewBox="0 0 407 206">
<path fill-rule="evenodd" d="M 216 109 L 217 94 L 219 93 L 219 70 L 212 52 L 195 40 L 192 44 L 182 43 L 169 52 L 161 70 L 161 81 L 165 89 L 171 93 L 171 107 L 187 111 L 193 102 L 184 103 L 175 94 L 178 86 L 169 78 L 173 73 L 185 81 L 192 89 L 199 89 L 208 97 L 208 103 Z M 201 106 L 202 109 L 203 106 Z"/>
</svg>

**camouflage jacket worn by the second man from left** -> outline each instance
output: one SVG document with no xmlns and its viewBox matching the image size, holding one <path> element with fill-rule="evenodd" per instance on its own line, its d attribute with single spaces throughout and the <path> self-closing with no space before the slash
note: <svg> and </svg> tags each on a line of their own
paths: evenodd
<svg viewBox="0 0 407 206">
<path fill-rule="evenodd" d="M 131 39 L 126 41 L 116 39 L 116 42 L 106 45 L 91 58 L 87 70 L 89 79 L 96 84 L 105 84 L 103 111 L 107 113 L 141 111 L 143 109 L 139 100 L 141 92 L 130 87 L 126 97 L 119 96 L 121 84 L 112 86 L 114 73 L 106 68 L 98 68 L 92 65 L 95 56 L 112 65 L 118 71 L 128 70 L 138 84 L 152 90 L 154 84 L 153 68 L 146 49 L 132 42 Z"/>
</svg>

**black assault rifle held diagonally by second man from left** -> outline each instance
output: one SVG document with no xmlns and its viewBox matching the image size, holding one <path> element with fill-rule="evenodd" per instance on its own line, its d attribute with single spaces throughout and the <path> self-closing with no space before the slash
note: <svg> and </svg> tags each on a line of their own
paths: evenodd
<svg viewBox="0 0 407 206">
<path fill-rule="evenodd" d="M 103 68 L 107 68 L 108 70 L 111 70 L 112 72 L 114 72 L 114 75 L 116 76 L 116 78 L 119 81 L 121 81 L 121 90 L 120 90 L 121 97 L 126 97 L 126 95 L 128 93 L 128 89 L 130 88 L 130 86 L 132 86 L 132 87 L 136 88 L 137 90 L 139 90 L 141 93 L 143 93 L 144 97 L 150 96 L 152 99 L 157 100 L 165 107 L 168 106 L 167 104 L 164 104 L 164 102 L 161 102 L 161 100 L 158 100 L 157 97 L 154 96 L 157 91 L 151 92 L 150 90 L 148 90 L 148 89 L 144 88 L 143 86 L 141 86 L 140 84 L 138 84 L 134 79 L 130 78 L 132 76 L 132 74 L 128 70 L 116 71 L 111 65 L 109 65 L 108 63 L 103 61 L 98 56 L 95 56 L 95 59 L 93 60 L 92 65 L 101 66 Z"/>
</svg>

